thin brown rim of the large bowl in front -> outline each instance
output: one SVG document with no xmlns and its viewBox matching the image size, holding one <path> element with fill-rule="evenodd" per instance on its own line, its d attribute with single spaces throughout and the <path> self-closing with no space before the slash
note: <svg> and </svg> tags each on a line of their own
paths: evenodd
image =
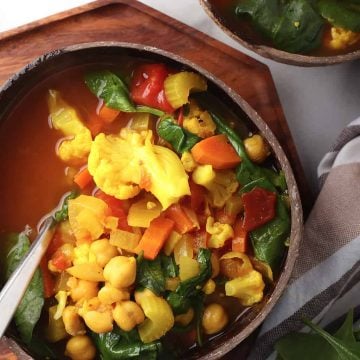
<svg viewBox="0 0 360 360">
<path fill-rule="evenodd" d="M 290 279 L 292 269 L 295 264 L 295 260 L 298 256 L 299 245 L 302 239 L 303 234 L 303 214 L 302 214 L 302 206 L 301 199 L 298 191 L 298 187 L 296 184 L 296 180 L 294 174 L 292 172 L 290 163 L 281 148 L 279 142 L 277 141 L 275 135 L 272 133 L 269 126 L 265 123 L 264 120 L 261 119 L 259 114 L 234 90 L 232 90 L 229 86 L 227 86 L 222 80 L 213 76 L 209 71 L 203 69 L 201 66 L 184 59 L 181 56 L 173 54 L 171 52 L 142 44 L 135 43 L 127 43 L 127 42 L 117 42 L 117 41 L 99 41 L 99 42 L 89 42 L 89 43 L 80 43 L 75 45 L 66 46 L 64 48 L 60 48 L 57 50 L 50 51 L 44 55 L 39 56 L 34 59 L 27 65 L 25 65 L 21 70 L 15 73 L 13 76 L 9 78 L 9 80 L 0 87 L 0 104 L 1 104 L 1 95 L 8 91 L 12 87 L 16 81 L 21 78 L 23 75 L 27 75 L 33 70 L 35 70 L 39 65 L 46 63 L 47 61 L 60 57 L 67 53 L 78 52 L 89 49 L 99 49 L 102 47 L 116 47 L 121 49 L 131 49 L 138 51 L 150 52 L 155 55 L 160 55 L 167 59 L 173 60 L 180 64 L 184 64 L 195 71 L 199 72 L 203 76 L 205 76 L 208 80 L 218 86 L 233 102 L 236 106 L 239 106 L 240 109 L 248 116 L 251 122 L 255 124 L 255 126 L 260 130 L 261 133 L 264 134 L 268 143 L 270 144 L 275 157 L 279 161 L 282 170 L 285 173 L 285 178 L 288 184 L 289 196 L 291 199 L 291 234 L 290 234 L 290 245 L 288 247 L 288 252 L 286 255 L 286 259 L 284 261 L 284 265 L 281 271 L 281 275 L 277 281 L 277 284 L 272 291 L 268 301 L 261 308 L 259 313 L 255 316 L 255 318 L 244 327 L 239 333 L 237 333 L 233 338 L 225 340 L 218 348 L 211 350 L 205 356 L 201 356 L 198 359 L 210 360 L 210 359 L 218 359 L 221 356 L 224 356 L 227 352 L 234 349 L 238 344 L 240 344 L 245 338 L 247 338 L 260 324 L 263 322 L 265 317 L 270 313 L 271 309 L 274 307 L 279 297 L 285 290 L 285 287 Z"/>
</svg>

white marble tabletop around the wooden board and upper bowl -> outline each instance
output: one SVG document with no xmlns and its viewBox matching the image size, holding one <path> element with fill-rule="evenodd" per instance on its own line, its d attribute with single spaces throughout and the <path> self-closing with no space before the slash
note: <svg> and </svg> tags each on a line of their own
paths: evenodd
<svg viewBox="0 0 360 360">
<path fill-rule="evenodd" d="M 316 190 L 317 164 L 341 129 L 360 115 L 360 61 L 320 68 L 278 64 L 251 53 L 225 35 L 206 16 L 198 0 L 139 1 L 269 66 L 307 178 Z M 87 2 L 2 0 L 0 31 Z"/>
</svg>

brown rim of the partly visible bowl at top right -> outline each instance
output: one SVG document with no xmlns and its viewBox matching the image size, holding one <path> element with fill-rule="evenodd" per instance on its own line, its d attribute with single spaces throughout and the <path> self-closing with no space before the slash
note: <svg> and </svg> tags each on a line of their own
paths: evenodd
<svg viewBox="0 0 360 360">
<path fill-rule="evenodd" d="M 265 58 L 288 65 L 296 65 L 303 67 L 336 65 L 343 62 L 360 59 L 360 49 L 351 51 L 346 54 L 339 54 L 333 56 L 313 56 L 294 54 L 267 45 L 251 44 L 241 38 L 230 28 L 228 28 L 221 20 L 221 18 L 215 15 L 215 13 L 212 11 L 211 0 L 199 0 L 199 2 L 207 15 L 210 17 L 210 19 L 212 19 L 216 23 L 216 25 L 221 28 L 222 31 L 224 31 L 227 35 L 229 35 L 232 39 L 237 41 L 245 48 Z"/>
</svg>

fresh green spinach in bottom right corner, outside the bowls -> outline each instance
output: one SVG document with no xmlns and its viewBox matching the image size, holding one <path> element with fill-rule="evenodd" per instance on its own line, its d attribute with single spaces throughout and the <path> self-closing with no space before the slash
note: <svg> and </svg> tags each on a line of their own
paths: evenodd
<svg viewBox="0 0 360 360">
<path fill-rule="evenodd" d="M 275 349 L 282 360 L 359 360 L 360 342 L 352 328 L 353 311 L 334 334 L 330 335 L 309 320 L 304 322 L 313 333 L 290 333 L 277 341 Z"/>
</svg>

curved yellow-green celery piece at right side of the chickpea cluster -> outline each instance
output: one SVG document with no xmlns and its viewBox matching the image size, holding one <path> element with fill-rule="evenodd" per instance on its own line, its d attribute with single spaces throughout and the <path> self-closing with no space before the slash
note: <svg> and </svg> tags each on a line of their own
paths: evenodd
<svg viewBox="0 0 360 360">
<path fill-rule="evenodd" d="M 139 326 L 139 335 L 144 343 L 160 339 L 174 326 L 174 315 L 170 305 L 161 297 L 142 298 L 140 306 L 146 316 Z"/>
</svg>

